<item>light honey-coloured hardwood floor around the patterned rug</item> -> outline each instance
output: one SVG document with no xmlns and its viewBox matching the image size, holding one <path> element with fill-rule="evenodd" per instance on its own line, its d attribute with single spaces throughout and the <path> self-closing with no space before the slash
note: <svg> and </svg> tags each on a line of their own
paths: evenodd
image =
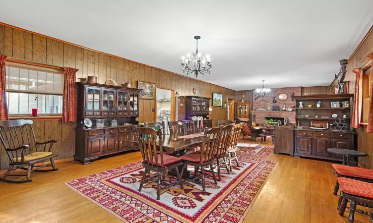
<svg viewBox="0 0 373 223">
<path fill-rule="evenodd" d="M 241 141 L 252 143 L 249 138 Z M 60 168 L 57 172 L 32 173 L 34 182 L 31 183 L 0 182 L 0 222 L 119 223 L 117 218 L 68 188 L 64 182 L 139 160 L 140 152 L 133 152 L 97 160 L 86 166 L 71 161 L 57 164 Z M 279 165 L 253 203 L 244 223 L 347 222 L 349 211 L 346 210 L 345 217 L 338 215 L 338 196 L 332 193 L 336 180 L 332 163 L 274 154 L 270 160 Z M 355 222 L 368 223 L 369 218 L 356 213 Z"/>
</svg>

